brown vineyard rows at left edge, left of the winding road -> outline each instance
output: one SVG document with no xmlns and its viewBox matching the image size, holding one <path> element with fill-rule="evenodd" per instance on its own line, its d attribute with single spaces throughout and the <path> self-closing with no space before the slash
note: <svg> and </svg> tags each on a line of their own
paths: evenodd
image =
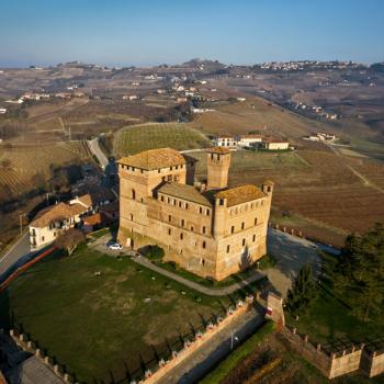
<svg viewBox="0 0 384 384">
<path fill-rule="evenodd" d="M 48 178 L 53 167 L 90 158 L 86 142 L 3 147 L 0 149 L 0 199 L 34 189 L 34 177 Z"/>
</svg>

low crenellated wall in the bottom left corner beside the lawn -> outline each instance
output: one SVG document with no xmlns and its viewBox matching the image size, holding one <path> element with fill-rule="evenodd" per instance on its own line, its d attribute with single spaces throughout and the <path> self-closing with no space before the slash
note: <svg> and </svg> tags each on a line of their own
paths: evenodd
<svg viewBox="0 0 384 384">
<path fill-rule="evenodd" d="M 66 383 L 74 383 L 75 380 L 72 375 L 67 373 L 63 365 L 56 364 L 54 359 L 46 355 L 42 349 L 36 347 L 36 343 L 32 340 L 29 340 L 25 334 L 19 334 L 16 330 L 10 330 L 10 337 L 13 341 L 24 351 L 33 353 L 36 358 L 41 360 L 42 363 L 48 365 L 48 368 Z"/>
</svg>

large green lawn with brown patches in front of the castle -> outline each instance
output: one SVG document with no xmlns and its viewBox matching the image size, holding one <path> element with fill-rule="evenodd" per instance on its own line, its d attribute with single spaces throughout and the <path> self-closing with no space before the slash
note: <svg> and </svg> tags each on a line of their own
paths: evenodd
<svg viewBox="0 0 384 384">
<path fill-rule="evenodd" d="M 97 276 L 94 272 L 101 272 Z M 150 298 L 150 301 L 145 301 Z M 155 364 L 238 297 L 208 297 L 129 258 L 79 249 L 55 255 L 0 296 L 0 323 L 14 321 L 80 382 L 116 381 Z M 142 361 L 142 363 L 140 363 Z"/>
</svg>

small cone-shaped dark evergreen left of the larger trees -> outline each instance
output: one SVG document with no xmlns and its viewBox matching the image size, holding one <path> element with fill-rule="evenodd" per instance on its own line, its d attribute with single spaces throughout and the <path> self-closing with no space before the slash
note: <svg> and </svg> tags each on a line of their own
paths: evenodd
<svg viewBox="0 0 384 384">
<path fill-rule="evenodd" d="M 314 298 L 316 298 L 317 293 L 318 287 L 313 274 L 312 266 L 305 264 L 298 271 L 292 287 L 287 292 L 287 310 L 294 315 L 305 312 Z"/>
</svg>

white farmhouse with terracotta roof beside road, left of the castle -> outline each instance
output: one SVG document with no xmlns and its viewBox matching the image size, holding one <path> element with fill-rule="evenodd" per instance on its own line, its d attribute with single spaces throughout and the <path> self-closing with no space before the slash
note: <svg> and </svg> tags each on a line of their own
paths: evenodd
<svg viewBox="0 0 384 384">
<path fill-rule="evenodd" d="M 59 203 L 41 211 L 30 224 L 31 249 L 47 246 L 65 230 L 80 223 L 80 216 L 87 212 L 81 204 Z"/>
</svg>

